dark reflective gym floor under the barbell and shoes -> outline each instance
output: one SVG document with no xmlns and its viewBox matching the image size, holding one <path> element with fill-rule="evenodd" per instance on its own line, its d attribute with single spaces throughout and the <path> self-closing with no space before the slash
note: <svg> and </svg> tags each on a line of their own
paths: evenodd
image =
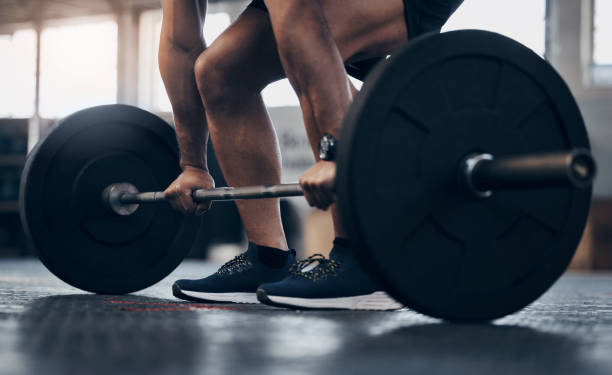
<svg viewBox="0 0 612 375">
<path fill-rule="evenodd" d="M 611 374 L 612 274 L 568 274 L 494 324 L 409 310 L 289 311 L 183 303 L 184 262 L 129 296 L 84 294 L 37 260 L 0 261 L 0 374 Z"/>
</svg>

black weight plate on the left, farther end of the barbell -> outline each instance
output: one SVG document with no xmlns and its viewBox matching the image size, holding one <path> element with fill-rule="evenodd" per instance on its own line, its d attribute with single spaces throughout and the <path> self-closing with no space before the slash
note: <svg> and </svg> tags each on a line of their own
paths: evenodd
<svg viewBox="0 0 612 375">
<path fill-rule="evenodd" d="M 174 130 L 124 105 L 60 121 L 28 156 L 21 218 L 40 259 L 57 277 L 101 294 L 131 293 L 167 276 L 187 255 L 199 220 L 168 205 L 117 216 L 100 199 L 112 184 L 164 190 L 180 173 Z"/>
</svg>

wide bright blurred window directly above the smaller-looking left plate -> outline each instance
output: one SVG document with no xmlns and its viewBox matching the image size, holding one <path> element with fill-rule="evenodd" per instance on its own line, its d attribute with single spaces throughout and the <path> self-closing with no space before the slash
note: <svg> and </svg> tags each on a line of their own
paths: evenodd
<svg viewBox="0 0 612 375">
<path fill-rule="evenodd" d="M 117 102 L 116 22 L 47 27 L 40 55 L 42 117 Z"/>
</svg>

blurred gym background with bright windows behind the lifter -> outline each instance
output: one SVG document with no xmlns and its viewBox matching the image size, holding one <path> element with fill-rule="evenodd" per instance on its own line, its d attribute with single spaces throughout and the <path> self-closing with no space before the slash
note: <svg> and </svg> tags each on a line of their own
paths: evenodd
<svg viewBox="0 0 612 375">
<path fill-rule="evenodd" d="M 208 44 L 248 1 L 210 1 Z M 612 0 L 465 0 L 443 29 L 478 28 L 510 36 L 549 60 L 578 99 L 599 162 L 596 199 L 573 269 L 612 269 Z M 53 122 L 78 109 L 137 105 L 169 122 L 157 68 L 159 0 L 0 0 L 0 257 L 33 255 L 19 220 L 26 154 Z M 289 83 L 263 92 L 283 152 L 283 182 L 313 158 Z M 236 110 L 240 110 L 237 108 Z M 222 176 L 211 158 L 217 184 Z M 301 255 L 329 250 L 331 220 L 302 199 L 282 203 L 289 243 Z M 232 203 L 202 221 L 191 256 L 225 260 L 244 249 Z"/>
</svg>

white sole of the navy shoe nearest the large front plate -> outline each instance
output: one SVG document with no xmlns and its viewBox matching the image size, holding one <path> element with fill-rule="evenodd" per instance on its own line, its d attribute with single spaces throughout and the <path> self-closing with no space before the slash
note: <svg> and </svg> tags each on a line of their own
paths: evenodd
<svg viewBox="0 0 612 375">
<path fill-rule="evenodd" d="M 299 298 L 272 296 L 266 294 L 263 289 L 258 289 L 257 299 L 266 305 L 290 309 L 388 311 L 404 307 L 385 292 L 354 297 Z"/>
</svg>

